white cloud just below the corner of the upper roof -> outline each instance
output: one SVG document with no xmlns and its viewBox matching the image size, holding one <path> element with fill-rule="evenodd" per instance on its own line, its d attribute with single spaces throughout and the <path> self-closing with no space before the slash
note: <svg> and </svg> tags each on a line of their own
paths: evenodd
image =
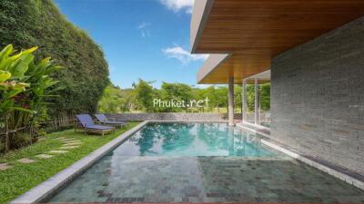
<svg viewBox="0 0 364 204">
<path fill-rule="evenodd" d="M 180 46 L 168 47 L 162 50 L 168 58 L 176 58 L 183 64 L 190 63 L 191 61 L 202 60 L 205 61 L 208 54 L 191 54 Z"/>
</svg>

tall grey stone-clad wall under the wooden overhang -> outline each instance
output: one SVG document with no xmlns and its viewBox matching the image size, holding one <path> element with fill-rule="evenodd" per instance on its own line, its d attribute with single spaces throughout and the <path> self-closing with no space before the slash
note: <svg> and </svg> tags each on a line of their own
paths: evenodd
<svg viewBox="0 0 364 204">
<path fill-rule="evenodd" d="M 364 174 L 364 17 L 273 59 L 271 136 Z"/>
</svg>

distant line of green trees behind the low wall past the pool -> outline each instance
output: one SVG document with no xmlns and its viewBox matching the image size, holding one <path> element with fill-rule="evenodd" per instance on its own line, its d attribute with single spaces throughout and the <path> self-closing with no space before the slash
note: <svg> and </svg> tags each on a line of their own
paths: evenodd
<svg viewBox="0 0 364 204">
<path fill-rule="evenodd" d="M 241 112 L 242 87 L 234 87 L 234 103 L 236 110 Z M 270 84 L 259 85 L 260 109 L 270 109 Z M 185 101 L 205 100 L 208 106 L 197 107 L 159 107 L 153 101 Z M 254 85 L 247 85 L 248 112 L 254 111 Z M 152 86 L 152 82 L 139 80 L 132 89 L 120 89 L 109 84 L 103 97 L 98 103 L 99 112 L 227 112 L 227 86 L 211 85 L 207 88 L 197 88 L 185 83 L 162 83 L 159 89 Z"/>
</svg>

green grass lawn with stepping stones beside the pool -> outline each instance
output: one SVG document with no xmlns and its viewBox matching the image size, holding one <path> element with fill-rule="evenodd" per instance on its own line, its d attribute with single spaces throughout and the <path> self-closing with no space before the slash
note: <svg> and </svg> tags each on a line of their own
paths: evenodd
<svg viewBox="0 0 364 204">
<path fill-rule="evenodd" d="M 83 132 L 72 130 L 50 133 L 41 138 L 41 141 L 23 149 L 12 151 L 0 156 L 0 163 L 6 162 L 13 166 L 11 169 L 0 170 L 0 203 L 7 203 L 47 180 L 57 172 L 66 169 L 77 160 L 82 159 L 91 151 L 115 139 L 121 133 L 135 127 L 138 122 L 129 122 L 124 128 L 105 136 L 86 135 Z M 35 155 L 57 150 L 62 146 L 59 137 L 75 138 L 83 143 L 76 149 L 67 150 L 64 154 L 53 154 L 54 157 L 46 160 L 37 159 Z M 20 163 L 16 160 L 29 158 L 37 160 L 34 163 Z"/>
</svg>

